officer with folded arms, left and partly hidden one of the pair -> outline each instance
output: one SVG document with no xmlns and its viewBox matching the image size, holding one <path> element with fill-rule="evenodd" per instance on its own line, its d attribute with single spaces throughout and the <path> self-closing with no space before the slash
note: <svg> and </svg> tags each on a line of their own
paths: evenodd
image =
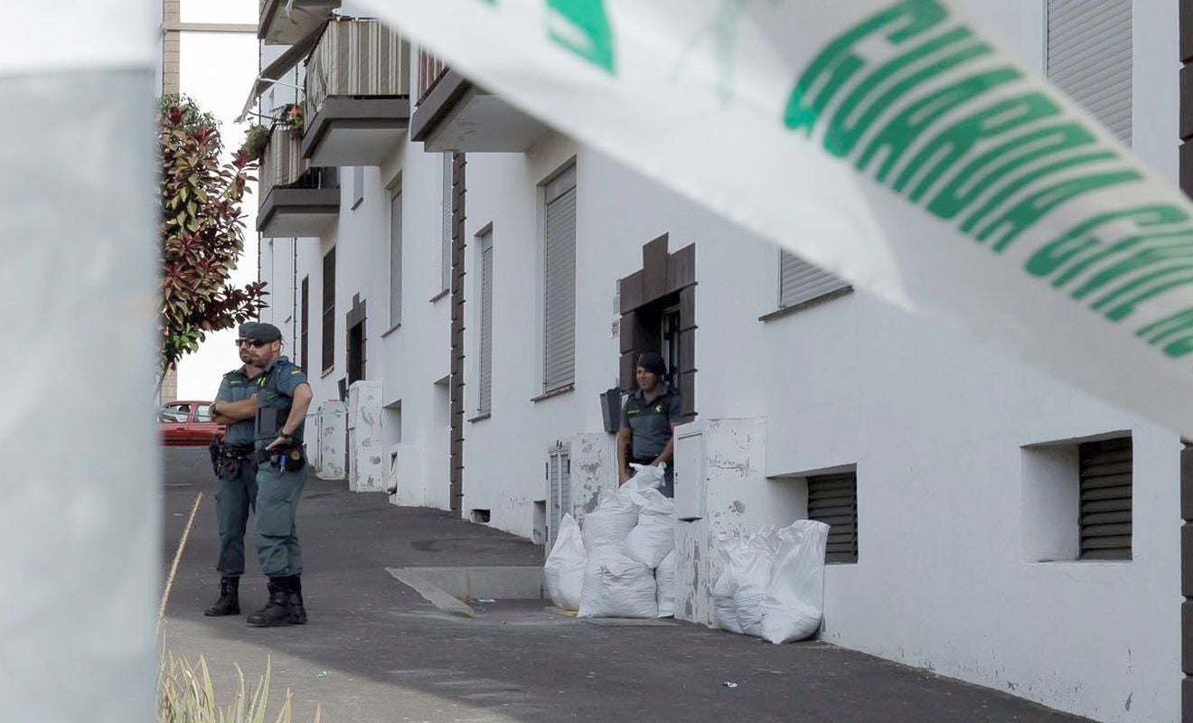
<svg viewBox="0 0 1193 723">
<path fill-rule="evenodd" d="M 256 377 L 261 367 L 253 365 L 248 341 L 256 339 L 255 322 L 240 326 L 236 346 L 245 363 L 224 375 L 211 404 L 212 421 L 227 425 L 224 438 L 211 441 L 211 462 L 220 477 L 216 492 L 216 521 L 220 530 L 220 599 L 206 608 L 206 616 L 240 614 L 240 576 L 245 574 L 245 529 L 248 511 L 256 508 L 256 464 L 253 463 L 254 424 L 256 416 Z"/>
</svg>

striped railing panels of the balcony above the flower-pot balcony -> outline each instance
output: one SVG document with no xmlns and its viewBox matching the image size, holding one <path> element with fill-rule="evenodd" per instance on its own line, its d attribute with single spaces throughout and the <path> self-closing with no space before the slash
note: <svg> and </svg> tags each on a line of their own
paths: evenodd
<svg viewBox="0 0 1193 723">
<path fill-rule="evenodd" d="M 409 43 L 377 20 L 328 23 L 307 63 L 307 125 L 329 97 L 408 98 L 409 57 Z"/>
</svg>

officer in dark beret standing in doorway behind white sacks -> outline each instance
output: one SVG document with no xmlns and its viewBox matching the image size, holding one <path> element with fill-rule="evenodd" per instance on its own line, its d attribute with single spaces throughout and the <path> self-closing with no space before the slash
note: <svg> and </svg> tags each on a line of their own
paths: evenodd
<svg viewBox="0 0 1193 723">
<path fill-rule="evenodd" d="M 674 452 L 673 432 L 680 424 L 679 394 L 672 390 L 663 377 L 667 367 L 656 352 L 643 352 L 635 366 L 638 389 L 625 400 L 622 408 L 622 427 L 617 431 L 618 483 L 625 484 L 633 476 L 630 463 L 659 466 L 667 465 L 662 492 L 668 498 L 675 494 L 675 471 L 672 468 Z"/>
</svg>

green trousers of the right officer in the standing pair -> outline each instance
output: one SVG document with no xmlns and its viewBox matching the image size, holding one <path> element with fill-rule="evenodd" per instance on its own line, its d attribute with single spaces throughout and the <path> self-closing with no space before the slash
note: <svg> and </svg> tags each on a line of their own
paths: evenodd
<svg viewBox="0 0 1193 723">
<path fill-rule="evenodd" d="M 302 574 L 295 514 L 307 487 L 307 465 L 288 472 L 266 461 L 256 465 L 256 557 L 270 577 Z"/>
</svg>

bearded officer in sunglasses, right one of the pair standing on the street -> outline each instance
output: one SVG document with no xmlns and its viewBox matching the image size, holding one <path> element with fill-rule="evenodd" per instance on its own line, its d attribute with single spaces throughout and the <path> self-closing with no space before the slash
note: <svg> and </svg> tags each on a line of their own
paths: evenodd
<svg viewBox="0 0 1193 723">
<path fill-rule="evenodd" d="M 246 335 L 248 336 L 248 335 Z M 270 601 L 248 616 L 256 628 L 307 622 L 302 599 L 302 549 L 295 513 L 307 484 L 303 424 L 310 407 L 307 375 L 282 356 L 282 330 L 258 325 L 248 356 L 256 377 L 256 555 L 270 577 Z"/>
</svg>

